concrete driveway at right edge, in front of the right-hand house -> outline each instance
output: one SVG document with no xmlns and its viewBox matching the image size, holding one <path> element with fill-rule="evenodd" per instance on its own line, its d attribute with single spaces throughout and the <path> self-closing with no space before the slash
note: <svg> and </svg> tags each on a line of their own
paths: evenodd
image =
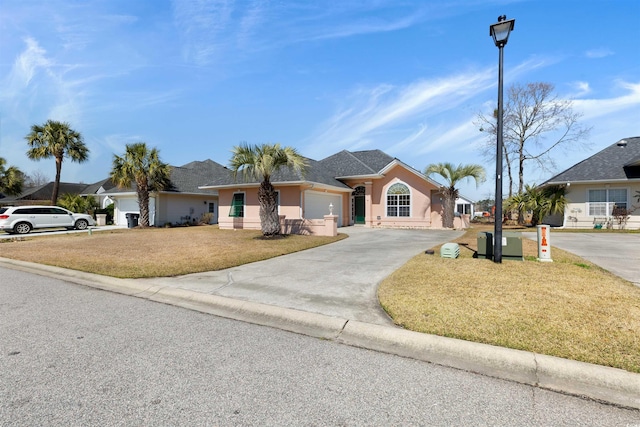
<svg viewBox="0 0 640 427">
<path fill-rule="evenodd" d="M 535 233 L 523 234 L 537 239 Z M 550 243 L 640 286 L 640 234 L 554 233 L 552 230 Z"/>
</svg>

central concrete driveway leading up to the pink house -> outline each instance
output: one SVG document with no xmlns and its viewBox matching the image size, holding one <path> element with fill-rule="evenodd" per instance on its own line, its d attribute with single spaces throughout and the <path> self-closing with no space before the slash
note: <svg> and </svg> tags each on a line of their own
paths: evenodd
<svg viewBox="0 0 640 427">
<path fill-rule="evenodd" d="M 227 270 L 138 281 L 391 325 L 378 303 L 378 283 L 413 256 L 463 234 L 365 227 L 339 231 L 349 238 Z"/>
</svg>

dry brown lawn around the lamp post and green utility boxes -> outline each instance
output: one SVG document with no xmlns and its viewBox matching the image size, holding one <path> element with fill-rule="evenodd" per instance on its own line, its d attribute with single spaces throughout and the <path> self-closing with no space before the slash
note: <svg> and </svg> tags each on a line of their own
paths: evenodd
<svg viewBox="0 0 640 427">
<path fill-rule="evenodd" d="M 528 239 L 525 262 L 475 259 L 478 231 L 457 241 L 460 258 L 436 248 L 381 284 L 380 302 L 397 324 L 640 372 L 640 288 L 557 248 L 553 263 L 537 262 Z"/>
</svg>

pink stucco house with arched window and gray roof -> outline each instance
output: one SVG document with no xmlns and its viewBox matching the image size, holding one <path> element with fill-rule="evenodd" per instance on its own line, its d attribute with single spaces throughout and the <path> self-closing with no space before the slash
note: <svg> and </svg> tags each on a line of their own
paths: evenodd
<svg viewBox="0 0 640 427">
<path fill-rule="evenodd" d="M 304 232 L 307 221 L 332 213 L 338 226 L 442 228 L 432 199 L 440 184 L 380 150 L 341 151 L 323 160 L 307 159 L 304 175 L 286 168 L 271 178 L 287 227 Z M 222 229 L 260 229 L 258 187 L 231 171 L 202 189 L 219 194 Z M 301 230 L 300 230 L 301 229 Z"/>
</svg>

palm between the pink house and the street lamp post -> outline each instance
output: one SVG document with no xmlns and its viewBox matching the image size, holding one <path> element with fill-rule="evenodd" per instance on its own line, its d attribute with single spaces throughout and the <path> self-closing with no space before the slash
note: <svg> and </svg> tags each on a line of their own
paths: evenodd
<svg viewBox="0 0 640 427">
<path fill-rule="evenodd" d="M 484 168 L 480 165 L 458 165 L 451 163 L 434 163 L 427 166 L 425 175 L 440 175 L 446 181 L 446 186 L 440 188 L 444 197 L 444 215 L 442 225 L 445 228 L 453 228 L 453 216 L 456 207 L 456 199 L 459 196 L 456 185 L 463 179 L 473 178 L 476 186 L 485 180 Z"/>
</svg>

